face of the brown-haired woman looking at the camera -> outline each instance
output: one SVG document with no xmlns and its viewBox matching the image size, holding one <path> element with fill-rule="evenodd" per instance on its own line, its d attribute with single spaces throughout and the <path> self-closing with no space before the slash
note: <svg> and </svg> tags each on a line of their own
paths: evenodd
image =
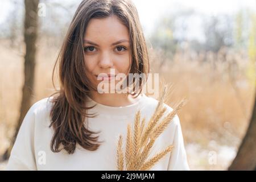
<svg viewBox="0 0 256 182">
<path fill-rule="evenodd" d="M 84 60 L 90 81 L 97 87 L 100 73 L 129 73 L 131 52 L 129 30 L 117 16 L 90 19 L 84 36 Z M 108 80 L 109 78 L 105 78 Z"/>
</svg>

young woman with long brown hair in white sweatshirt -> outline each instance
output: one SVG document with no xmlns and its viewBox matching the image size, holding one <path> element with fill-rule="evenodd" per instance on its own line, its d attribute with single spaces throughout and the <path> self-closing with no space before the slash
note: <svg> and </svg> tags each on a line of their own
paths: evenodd
<svg viewBox="0 0 256 182">
<path fill-rule="evenodd" d="M 158 104 L 142 93 L 142 87 L 137 93 L 98 90 L 102 81 L 114 80 L 116 85 L 118 74 L 148 73 L 147 47 L 134 4 L 130 0 L 82 1 L 56 63 L 60 89 L 28 110 L 7 169 L 116 170 L 119 134 L 125 138 L 137 110 L 148 121 Z M 172 153 L 151 170 L 189 169 L 177 115 L 156 140 L 152 154 L 170 144 Z"/>
</svg>

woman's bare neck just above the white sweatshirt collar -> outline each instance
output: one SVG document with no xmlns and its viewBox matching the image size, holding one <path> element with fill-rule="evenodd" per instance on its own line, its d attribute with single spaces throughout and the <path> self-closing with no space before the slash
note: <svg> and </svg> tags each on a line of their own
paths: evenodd
<svg viewBox="0 0 256 182">
<path fill-rule="evenodd" d="M 142 97 L 142 94 L 139 94 L 138 97 L 134 98 L 130 94 L 123 94 L 123 93 L 104 93 L 100 94 L 98 92 L 92 92 L 90 98 L 95 102 L 106 105 L 106 106 L 127 106 L 134 104 Z"/>
</svg>

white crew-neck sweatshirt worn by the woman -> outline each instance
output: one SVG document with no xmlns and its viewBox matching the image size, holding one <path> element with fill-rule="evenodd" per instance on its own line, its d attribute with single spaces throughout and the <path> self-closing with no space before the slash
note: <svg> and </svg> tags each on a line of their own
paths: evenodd
<svg viewBox="0 0 256 182">
<path fill-rule="evenodd" d="M 53 129 L 49 128 L 49 112 L 52 103 L 49 100 L 51 97 L 44 98 L 28 110 L 11 151 L 7 170 L 117 170 L 119 134 L 122 134 L 125 144 L 127 124 L 131 123 L 133 126 L 136 111 L 140 109 L 142 118 L 146 117 L 148 122 L 158 104 L 157 100 L 145 94 L 135 104 L 123 107 L 106 106 L 88 100 L 89 105 L 97 104 L 89 113 L 98 114 L 96 118 L 87 118 L 89 130 L 100 131 L 98 139 L 104 142 L 96 151 L 85 150 L 77 144 L 74 154 L 68 154 L 64 150 L 57 153 L 51 151 Z M 173 110 L 170 106 L 165 106 L 168 111 L 166 114 Z M 172 152 L 160 159 L 150 171 L 189 170 L 177 115 L 156 139 L 148 159 L 170 144 L 174 145 Z"/>
</svg>

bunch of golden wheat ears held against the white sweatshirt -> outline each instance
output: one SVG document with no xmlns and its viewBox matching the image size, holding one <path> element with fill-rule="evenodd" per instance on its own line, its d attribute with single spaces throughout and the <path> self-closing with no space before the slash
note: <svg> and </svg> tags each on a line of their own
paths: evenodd
<svg viewBox="0 0 256 182">
<path fill-rule="evenodd" d="M 163 92 L 158 98 L 158 105 L 156 106 L 154 114 L 151 116 L 146 128 L 144 128 L 146 119 L 141 119 L 140 110 L 135 114 L 133 131 L 131 131 L 130 124 L 127 125 L 125 151 L 123 151 L 122 135 L 119 135 L 117 143 L 117 169 L 119 171 L 149 170 L 161 158 L 168 154 L 168 152 L 172 151 L 174 146 L 170 145 L 163 151 L 155 154 L 151 159 L 147 160 L 155 140 L 163 133 L 164 129 L 167 128 L 169 123 L 175 117 L 175 114 L 177 114 L 177 110 L 180 110 L 185 103 L 185 100 L 180 101 L 179 104 L 160 122 L 160 119 L 166 112 L 166 107 L 164 106 L 166 90 L 167 86 L 164 86 Z"/>
</svg>

